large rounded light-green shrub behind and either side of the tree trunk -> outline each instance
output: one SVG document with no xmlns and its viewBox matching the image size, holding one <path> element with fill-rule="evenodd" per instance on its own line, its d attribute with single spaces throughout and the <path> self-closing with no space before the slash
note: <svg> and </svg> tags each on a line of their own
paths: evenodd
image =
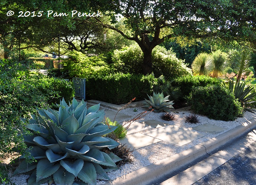
<svg viewBox="0 0 256 185">
<path fill-rule="evenodd" d="M 135 44 L 121 50 L 115 50 L 113 57 L 113 68 L 123 73 L 142 74 L 143 53 Z M 171 51 L 157 46 L 152 51 L 152 69 L 155 77 L 164 75 L 170 78 L 191 74 L 191 70 Z"/>
</svg>

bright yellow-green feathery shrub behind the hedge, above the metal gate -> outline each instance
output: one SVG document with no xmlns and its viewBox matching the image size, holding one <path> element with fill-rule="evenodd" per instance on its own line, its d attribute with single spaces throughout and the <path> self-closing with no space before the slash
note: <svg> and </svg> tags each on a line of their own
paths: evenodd
<svg viewBox="0 0 256 185">
<path fill-rule="evenodd" d="M 64 70 L 69 70 L 70 77 L 88 78 L 96 74 L 106 75 L 111 71 L 103 56 L 88 57 L 77 51 L 70 52 L 67 56 L 61 63 Z"/>
</svg>

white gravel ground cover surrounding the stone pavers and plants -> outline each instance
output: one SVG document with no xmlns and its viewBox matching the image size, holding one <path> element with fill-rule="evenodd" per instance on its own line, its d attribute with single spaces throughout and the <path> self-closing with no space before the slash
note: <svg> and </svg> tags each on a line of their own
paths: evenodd
<svg viewBox="0 0 256 185">
<path fill-rule="evenodd" d="M 92 104 L 92 103 L 88 103 L 88 104 Z M 105 110 L 112 110 L 112 109 L 108 109 L 105 108 Z M 113 110 L 116 111 L 116 110 Z M 136 112 L 134 112 L 134 108 L 128 108 L 128 109 L 123 109 L 121 111 L 119 111 L 120 113 L 123 114 L 127 114 L 130 115 L 132 117 L 135 117 L 136 115 L 142 113 L 143 111 L 145 111 L 144 108 L 138 108 L 138 110 Z M 165 159 L 166 157 L 172 156 L 174 154 L 177 154 L 179 152 L 182 152 L 190 147 L 193 147 L 197 144 L 200 144 L 201 142 L 207 141 L 213 137 L 218 136 L 219 134 L 222 134 L 228 130 L 231 130 L 233 128 L 235 128 L 236 126 L 239 126 L 243 123 L 245 123 L 248 120 L 251 120 L 252 118 L 256 117 L 255 113 L 251 113 L 246 111 L 244 113 L 244 117 L 238 117 L 235 121 L 219 121 L 219 120 L 212 120 L 209 119 L 206 116 L 202 116 L 202 115 L 197 115 L 199 118 L 200 123 L 197 124 L 191 124 L 191 123 L 186 123 L 185 122 L 185 118 L 184 116 L 188 116 L 190 114 L 193 114 L 193 112 L 191 110 L 188 111 L 180 111 L 177 113 L 174 113 L 176 120 L 174 121 L 164 121 L 160 118 L 160 115 L 162 113 L 155 113 L 155 112 L 150 112 L 148 115 L 146 115 L 145 117 L 141 118 L 140 120 L 136 120 L 137 122 L 142 122 L 142 121 L 148 121 L 148 120 L 157 120 L 157 121 L 161 121 L 161 122 L 165 122 L 168 125 L 176 125 L 182 128 L 186 128 L 186 129 L 192 129 L 194 126 L 198 126 L 201 124 L 212 124 L 212 125 L 216 125 L 216 126 L 221 126 L 226 128 L 227 130 L 218 133 L 218 134 L 209 134 L 207 133 L 204 137 L 201 137 L 199 139 L 196 139 L 188 144 L 185 144 L 183 146 L 177 146 L 174 144 L 171 144 L 169 142 L 165 142 L 165 141 L 160 141 L 157 142 L 156 144 L 152 144 L 149 146 L 145 146 L 139 149 L 136 149 L 133 151 L 133 156 L 134 156 L 134 161 L 132 163 L 129 164 L 125 164 L 123 165 L 119 170 L 115 170 L 112 172 L 108 172 L 108 175 L 110 177 L 111 180 L 120 177 L 122 175 L 126 175 L 132 171 L 138 170 L 140 168 L 143 168 L 147 165 L 153 164 L 158 162 L 159 160 Z M 122 121 L 127 121 L 127 119 L 122 120 Z M 155 128 L 152 128 L 155 129 Z M 148 130 L 152 130 L 152 129 L 148 129 Z M 143 133 L 145 131 L 148 130 L 144 130 L 141 131 L 140 133 Z M 199 131 L 198 131 L 199 132 Z M 200 133 L 200 132 L 199 132 Z M 201 132 L 204 133 L 205 132 Z M 10 175 L 12 174 L 12 172 L 10 172 Z M 16 185 L 26 185 L 26 179 L 28 178 L 28 175 L 16 175 L 13 176 L 11 179 L 13 181 L 13 183 L 15 183 Z M 105 181 L 98 181 L 97 184 L 105 184 Z M 47 184 L 47 183 L 45 183 Z M 45 185 L 44 184 L 44 185 Z"/>
</svg>

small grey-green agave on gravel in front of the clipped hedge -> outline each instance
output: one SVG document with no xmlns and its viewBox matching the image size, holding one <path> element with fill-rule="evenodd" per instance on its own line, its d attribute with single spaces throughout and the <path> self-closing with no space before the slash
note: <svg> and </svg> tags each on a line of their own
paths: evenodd
<svg viewBox="0 0 256 185">
<path fill-rule="evenodd" d="M 164 97 L 163 92 L 161 94 L 153 92 L 153 97 L 148 95 L 149 100 L 145 99 L 143 107 L 149 110 L 154 109 L 155 112 L 169 112 L 170 109 L 173 109 L 172 105 L 174 104 L 173 101 L 168 100 L 169 96 Z"/>
</svg>

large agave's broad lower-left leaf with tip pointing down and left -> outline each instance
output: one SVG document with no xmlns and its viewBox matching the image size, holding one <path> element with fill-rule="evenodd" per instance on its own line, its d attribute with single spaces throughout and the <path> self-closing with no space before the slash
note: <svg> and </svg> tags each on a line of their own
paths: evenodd
<svg viewBox="0 0 256 185">
<path fill-rule="evenodd" d="M 36 168 L 36 182 L 54 174 L 61 165 L 51 163 L 48 159 L 41 159 Z"/>
</svg>

